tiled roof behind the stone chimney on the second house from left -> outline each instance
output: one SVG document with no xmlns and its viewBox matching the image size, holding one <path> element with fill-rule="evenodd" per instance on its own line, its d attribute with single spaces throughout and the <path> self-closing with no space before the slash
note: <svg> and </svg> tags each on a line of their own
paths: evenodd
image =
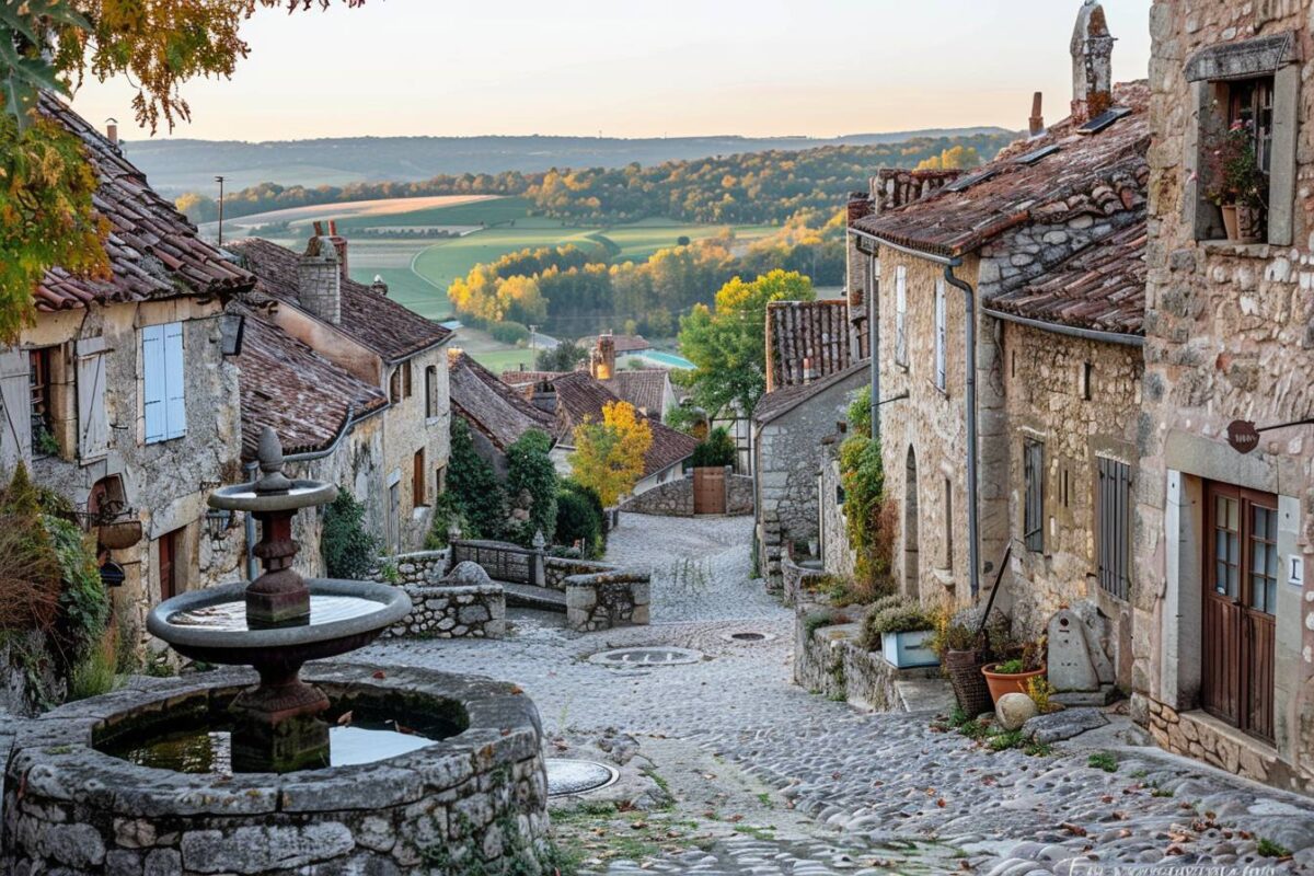
<svg viewBox="0 0 1314 876">
<path fill-rule="evenodd" d="M 238 240 L 229 248 L 242 256 L 246 267 L 260 278 L 259 292 L 293 306 L 301 303 L 297 280 L 301 253 L 260 238 Z M 342 281 L 342 322 L 338 328 L 386 361 L 406 359 L 452 336 L 436 322 L 371 292 L 369 286 L 355 280 Z"/>
</svg>

